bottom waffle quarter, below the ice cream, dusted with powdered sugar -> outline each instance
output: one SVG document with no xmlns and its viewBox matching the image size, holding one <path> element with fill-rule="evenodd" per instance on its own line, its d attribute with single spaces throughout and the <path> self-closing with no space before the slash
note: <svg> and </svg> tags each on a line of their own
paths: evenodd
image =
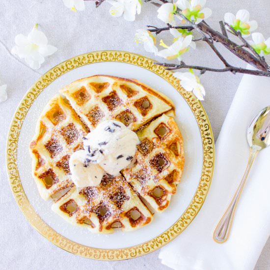
<svg viewBox="0 0 270 270">
<path fill-rule="evenodd" d="M 123 176 L 103 176 L 99 186 L 76 189 L 58 200 L 53 211 L 76 226 L 94 233 L 132 231 L 152 221 L 152 214 Z"/>
</svg>

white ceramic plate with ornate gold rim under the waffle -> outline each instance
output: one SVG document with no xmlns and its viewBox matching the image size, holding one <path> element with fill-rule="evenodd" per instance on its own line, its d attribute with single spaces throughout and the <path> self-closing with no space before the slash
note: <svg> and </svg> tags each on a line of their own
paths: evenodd
<svg viewBox="0 0 270 270">
<path fill-rule="evenodd" d="M 105 57 L 103 53 L 107 53 L 107 56 Z M 15 113 L 12 122 L 14 124 L 14 121 L 17 121 L 16 129 L 20 131 L 16 138 L 18 144 L 16 149 L 14 149 L 14 152 L 17 151 L 17 162 L 15 163 L 17 163 L 16 168 L 19 172 L 16 179 L 17 182 L 15 184 L 12 184 L 12 181 L 14 182 L 14 178 L 12 177 L 14 174 L 12 174 L 10 169 L 9 159 L 11 157 L 11 152 L 13 151 L 13 147 L 10 145 L 10 138 L 14 133 L 14 125 L 12 128 L 12 124 L 7 143 L 7 167 L 15 198 L 19 205 L 20 202 L 23 202 L 23 206 L 20 206 L 30 222 L 35 218 L 41 218 L 44 223 L 47 224 L 43 224 L 42 226 L 45 226 L 46 228 L 50 227 L 51 233 L 54 232 L 55 235 L 59 235 L 63 239 L 67 239 L 70 241 L 70 243 L 77 244 L 79 249 L 85 246 L 89 247 L 92 251 L 101 250 L 100 252 L 105 257 L 102 257 L 102 254 L 100 254 L 100 257 L 96 257 L 97 259 L 115 260 L 136 257 L 153 251 L 173 239 L 187 227 L 200 209 L 211 183 L 214 162 L 214 142 L 208 118 L 201 104 L 192 96 L 191 93 L 187 93 L 183 88 L 180 88 L 179 81 L 172 77 L 170 72 L 164 71 L 162 67 L 153 65 L 153 61 L 151 59 L 140 55 L 124 52 L 103 53 L 95 52 L 91 53 L 91 55 L 84 54 L 77 56 L 77 58 L 75 57 L 71 60 L 67 60 L 64 63 L 59 64 L 58 67 L 55 67 L 46 73 L 37 83 L 33 85 L 33 87 L 28 91 L 28 95 L 26 95 L 20 104 L 17 110 L 17 116 Z M 110 54 L 112 54 L 111 57 Z M 116 57 L 116 54 L 122 55 L 122 58 L 119 55 Z M 126 54 L 130 55 L 130 57 L 128 57 Z M 94 55 L 94 57 L 92 55 Z M 78 60 L 78 57 L 80 60 Z M 83 57 L 86 57 L 86 60 L 90 59 L 90 63 L 86 61 L 86 64 L 84 64 Z M 129 62 L 130 60 L 132 61 L 131 63 Z M 78 61 L 81 64 L 78 65 Z M 175 104 L 175 120 L 184 139 L 185 167 L 181 182 L 177 187 L 176 194 L 173 195 L 170 205 L 164 212 L 156 213 L 154 215 L 154 220 L 149 225 L 144 226 L 134 232 L 123 233 L 119 230 L 110 235 L 97 235 L 92 234 L 85 228 L 70 225 L 51 210 L 51 200 L 44 201 L 39 196 L 35 182 L 31 177 L 31 158 L 28 154 L 28 146 L 32 136 L 34 135 L 37 119 L 44 106 L 63 86 L 71 83 L 72 81 L 97 74 L 137 79 L 138 81 L 148 84 L 152 88 L 157 89 L 163 94 L 167 95 Z M 175 89 L 176 85 L 178 90 Z M 27 104 L 26 101 L 28 101 Z M 22 109 L 22 106 L 27 107 L 27 109 Z M 21 121 L 19 124 L 18 111 L 21 111 L 22 115 L 19 117 Z M 207 142 L 204 137 L 208 137 L 210 141 Z M 211 147 L 211 154 L 211 151 L 207 151 L 205 148 L 205 144 L 207 144 L 208 147 Z M 14 155 L 15 154 L 16 153 L 14 153 Z M 209 166 L 205 164 L 207 160 Z M 212 165 L 211 162 L 209 163 L 209 161 L 212 162 Z M 13 161 L 11 164 L 13 164 Z M 205 181 L 207 168 L 209 171 L 207 175 L 209 176 L 207 181 Z M 25 198 L 20 200 L 18 197 L 16 197 L 18 194 L 14 192 L 14 185 L 16 186 L 18 183 L 23 188 L 21 192 L 23 192 L 25 195 Z M 199 190 L 201 184 L 203 183 L 205 184 L 204 191 Z M 194 196 L 195 194 L 196 196 Z M 30 216 L 29 213 L 26 213 L 27 210 L 25 209 L 28 203 L 34 210 L 31 211 Z M 190 213 L 190 205 L 194 206 L 193 208 L 191 207 L 191 212 L 193 213 Z M 189 212 L 187 212 L 187 209 L 189 209 Z M 180 222 L 181 218 L 182 222 L 181 224 L 178 224 L 179 227 L 182 226 L 180 228 L 181 230 L 173 230 L 173 226 L 177 224 L 177 222 Z M 33 224 L 35 222 L 31 223 Z M 39 226 L 38 224 L 33 225 L 34 227 Z M 44 232 L 42 232 L 40 228 L 37 229 L 44 235 Z M 149 250 L 144 251 L 145 248 L 142 247 L 142 243 L 149 243 L 151 245 L 153 240 L 157 242 L 159 237 L 170 229 L 173 232 L 171 233 L 171 237 L 167 236 L 167 241 L 162 240 L 159 245 L 153 246 Z M 48 233 L 45 235 L 45 237 L 60 247 L 69 250 L 67 245 L 61 246 L 60 242 L 58 243 L 57 241 L 50 239 Z M 138 252 L 138 246 L 142 247 L 141 252 Z M 136 252 L 135 250 L 132 251 L 130 247 L 137 247 L 135 248 Z M 130 251 L 127 251 L 129 254 L 126 257 L 123 255 L 122 257 L 120 256 L 119 258 L 116 258 L 116 253 L 113 253 L 113 255 L 111 255 L 112 257 L 110 258 L 107 253 L 110 252 L 110 249 L 116 251 Z M 72 251 L 72 248 L 69 251 L 75 254 L 80 253 Z M 133 256 L 130 252 L 135 252 L 135 256 Z M 91 255 L 85 254 L 81 250 L 81 254 L 79 255 L 95 258 L 93 255 L 94 253 L 91 253 Z"/>
</svg>

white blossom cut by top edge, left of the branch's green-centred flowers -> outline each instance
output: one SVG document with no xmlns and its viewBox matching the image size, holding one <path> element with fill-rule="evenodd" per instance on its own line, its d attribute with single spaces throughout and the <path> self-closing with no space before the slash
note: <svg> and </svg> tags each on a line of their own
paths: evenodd
<svg viewBox="0 0 270 270">
<path fill-rule="evenodd" d="M 109 13 L 113 17 L 123 15 L 124 19 L 130 22 L 135 21 L 135 15 L 140 14 L 141 0 L 107 0 L 112 7 Z"/>
</svg>

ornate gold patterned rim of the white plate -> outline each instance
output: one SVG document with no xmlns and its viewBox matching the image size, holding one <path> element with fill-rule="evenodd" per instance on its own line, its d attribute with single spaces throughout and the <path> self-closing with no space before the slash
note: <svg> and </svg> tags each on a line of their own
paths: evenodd
<svg viewBox="0 0 270 270">
<path fill-rule="evenodd" d="M 93 248 L 83 244 L 76 243 L 62 236 L 52 229 L 34 210 L 27 199 L 27 195 L 22 187 L 19 171 L 17 167 L 17 146 L 20 136 L 21 126 L 24 122 L 27 111 L 35 101 L 37 96 L 54 80 L 61 75 L 76 69 L 83 65 L 98 62 L 122 62 L 133 64 L 141 68 L 147 69 L 156 75 L 162 77 L 163 80 L 170 83 L 185 99 L 191 109 L 202 140 L 203 148 L 203 164 L 201 177 L 197 189 L 182 216 L 172 224 L 162 234 L 144 243 L 116 249 Z M 180 81 L 173 76 L 171 71 L 165 70 L 163 66 L 155 64 L 155 60 L 146 56 L 116 50 L 95 51 L 86 54 L 80 54 L 67 59 L 52 69 L 44 73 L 26 92 L 18 107 L 16 108 L 9 127 L 6 142 L 6 169 L 12 194 L 17 202 L 20 210 L 27 218 L 28 222 L 47 240 L 54 245 L 79 256 L 102 260 L 117 261 L 136 258 L 150 252 L 153 252 L 165 244 L 175 239 L 181 234 L 191 223 L 194 217 L 201 209 L 207 193 L 210 189 L 211 181 L 214 173 L 215 163 L 215 145 L 214 136 L 208 116 L 201 104 L 192 92 L 186 91 Z"/>
</svg>

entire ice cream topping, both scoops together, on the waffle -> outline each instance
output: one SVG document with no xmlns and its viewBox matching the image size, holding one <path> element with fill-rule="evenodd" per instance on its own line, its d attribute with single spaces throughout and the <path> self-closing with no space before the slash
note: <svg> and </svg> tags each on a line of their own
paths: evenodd
<svg viewBox="0 0 270 270">
<path fill-rule="evenodd" d="M 120 171 L 134 164 L 136 145 L 135 132 L 119 121 L 100 123 L 83 137 L 83 148 L 74 152 L 69 160 L 71 177 L 79 188 L 97 186 L 104 173 L 117 176 Z"/>
</svg>

